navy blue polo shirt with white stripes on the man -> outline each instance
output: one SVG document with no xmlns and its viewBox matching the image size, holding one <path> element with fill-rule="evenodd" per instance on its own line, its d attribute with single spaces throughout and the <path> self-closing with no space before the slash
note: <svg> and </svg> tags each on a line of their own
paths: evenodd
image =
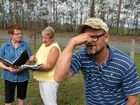
<svg viewBox="0 0 140 105">
<path fill-rule="evenodd" d="M 140 93 L 136 65 L 124 52 L 109 47 L 108 60 L 97 65 L 86 48 L 75 52 L 71 72 L 84 76 L 87 105 L 126 105 L 127 96 Z"/>
</svg>

